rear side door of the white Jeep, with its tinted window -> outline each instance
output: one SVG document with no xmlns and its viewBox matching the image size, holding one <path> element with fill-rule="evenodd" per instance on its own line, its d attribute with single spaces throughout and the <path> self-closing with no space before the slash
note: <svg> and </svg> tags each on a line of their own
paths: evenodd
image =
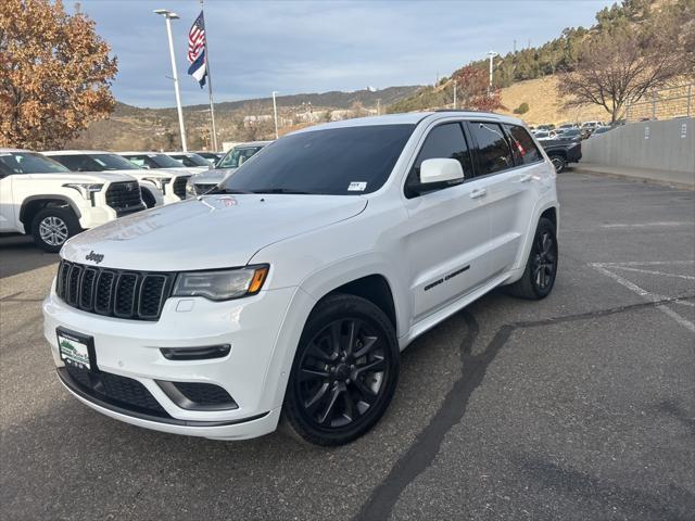
<svg viewBox="0 0 695 521">
<path fill-rule="evenodd" d="M 517 264 L 523 238 L 531 226 L 546 166 L 543 155 L 521 126 L 470 122 L 469 130 L 477 144 L 479 175 L 488 180 L 493 250 L 490 262 L 495 272 L 507 271 Z"/>
</svg>

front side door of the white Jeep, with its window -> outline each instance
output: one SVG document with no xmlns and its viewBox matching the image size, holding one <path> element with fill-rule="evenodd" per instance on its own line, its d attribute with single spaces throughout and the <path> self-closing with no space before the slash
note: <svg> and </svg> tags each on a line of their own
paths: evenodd
<svg viewBox="0 0 695 521">
<path fill-rule="evenodd" d="M 419 181 L 422 161 L 455 158 L 465 181 L 426 193 L 408 189 Z M 441 309 L 490 277 L 490 215 L 479 196 L 470 147 L 460 122 L 429 130 L 405 183 L 405 258 L 408 263 L 414 321 Z"/>
</svg>

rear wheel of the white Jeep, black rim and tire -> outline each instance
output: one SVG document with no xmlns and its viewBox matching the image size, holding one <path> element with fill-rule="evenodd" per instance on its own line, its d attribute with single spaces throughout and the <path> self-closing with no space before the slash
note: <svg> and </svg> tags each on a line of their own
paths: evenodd
<svg viewBox="0 0 695 521">
<path fill-rule="evenodd" d="M 555 285 L 557 264 L 558 246 L 555 226 L 551 220 L 542 217 L 533 236 L 523 275 L 506 288 L 507 293 L 534 301 L 545 298 Z"/>
</svg>

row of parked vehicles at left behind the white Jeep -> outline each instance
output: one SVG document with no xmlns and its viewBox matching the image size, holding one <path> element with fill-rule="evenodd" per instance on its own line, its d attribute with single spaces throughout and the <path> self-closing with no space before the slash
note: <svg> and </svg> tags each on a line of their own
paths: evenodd
<svg viewBox="0 0 695 521">
<path fill-rule="evenodd" d="M 213 189 L 267 143 L 226 154 L 0 149 L 0 232 L 58 252 L 83 229 Z"/>
</svg>

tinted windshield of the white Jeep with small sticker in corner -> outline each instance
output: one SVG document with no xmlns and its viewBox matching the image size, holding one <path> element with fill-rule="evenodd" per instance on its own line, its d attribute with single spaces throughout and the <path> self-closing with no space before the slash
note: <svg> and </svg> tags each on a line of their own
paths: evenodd
<svg viewBox="0 0 695 521">
<path fill-rule="evenodd" d="M 359 195 L 387 181 L 415 125 L 365 125 L 286 136 L 222 183 L 229 192 Z"/>
</svg>

